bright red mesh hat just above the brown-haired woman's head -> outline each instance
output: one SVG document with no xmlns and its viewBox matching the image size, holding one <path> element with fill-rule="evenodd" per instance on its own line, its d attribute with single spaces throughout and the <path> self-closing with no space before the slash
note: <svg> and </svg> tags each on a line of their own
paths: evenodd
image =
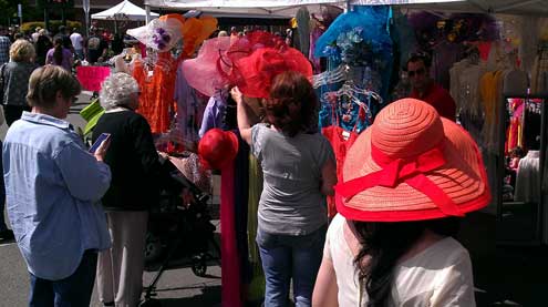
<svg viewBox="0 0 548 307">
<path fill-rule="evenodd" d="M 239 59 L 232 69 L 232 82 L 250 98 L 268 98 L 272 79 L 285 71 L 297 71 L 312 78 L 312 65 L 293 48 L 261 48 Z"/>
</svg>

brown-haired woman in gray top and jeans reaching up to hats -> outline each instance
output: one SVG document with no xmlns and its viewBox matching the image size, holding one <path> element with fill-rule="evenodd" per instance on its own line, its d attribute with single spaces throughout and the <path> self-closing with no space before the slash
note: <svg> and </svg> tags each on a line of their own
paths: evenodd
<svg viewBox="0 0 548 307">
<path fill-rule="evenodd" d="M 257 244 L 266 276 L 265 306 L 288 306 L 293 279 L 296 306 L 311 306 L 321 263 L 328 213 L 337 172 L 333 150 L 309 132 L 318 100 L 308 79 L 297 72 L 276 75 L 265 101 L 269 124 L 250 125 L 238 88 L 238 127 L 263 172 Z"/>
</svg>

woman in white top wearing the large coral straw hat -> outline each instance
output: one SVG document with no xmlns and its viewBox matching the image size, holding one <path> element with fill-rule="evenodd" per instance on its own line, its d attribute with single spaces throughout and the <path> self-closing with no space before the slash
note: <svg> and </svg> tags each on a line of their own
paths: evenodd
<svg viewBox="0 0 548 307">
<path fill-rule="evenodd" d="M 350 149 L 313 306 L 475 306 L 458 217 L 490 202 L 473 139 L 430 104 L 391 103 Z"/>
</svg>

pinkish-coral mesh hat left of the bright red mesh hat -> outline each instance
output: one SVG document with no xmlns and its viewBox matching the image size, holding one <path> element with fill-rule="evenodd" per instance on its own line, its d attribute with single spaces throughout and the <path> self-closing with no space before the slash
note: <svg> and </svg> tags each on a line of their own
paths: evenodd
<svg viewBox="0 0 548 307">
<path fill-rule="evenodd" d="M 216 90 L 228 84 L 228 71 L 219 73 L 218 69 L 224 69 L 219 62 L 226 60 L 229 48 L 228 37 L 206 40 L 196 59 L 183 62 L 183 73 L 188 84 L 208 96 L 213 96 Z"/>
</svg>

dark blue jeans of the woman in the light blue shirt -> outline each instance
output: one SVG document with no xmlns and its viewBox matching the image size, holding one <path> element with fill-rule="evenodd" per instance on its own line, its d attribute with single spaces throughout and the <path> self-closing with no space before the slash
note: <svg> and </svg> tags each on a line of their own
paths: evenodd
<svg viewBox="0 0 548 307">
<path fill-rule="evenodd" d="M 76 270 L 61 280 L 46 280 L 30 275 L 30 307 L 75 307 L 90 306 L 97 253 L 86 250 Z"/>
</svg>

